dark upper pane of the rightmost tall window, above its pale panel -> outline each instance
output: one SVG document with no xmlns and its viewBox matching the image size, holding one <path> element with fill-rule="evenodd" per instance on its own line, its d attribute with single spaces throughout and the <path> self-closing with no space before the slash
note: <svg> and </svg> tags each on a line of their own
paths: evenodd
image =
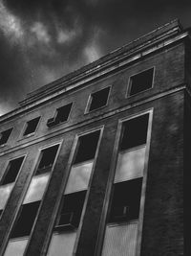
<svg viewBox="0 0 191 256">
<path fill-rule="evenodd" d="M 146 143 L 148 119 L 149 114 L 145 114 L 123 123 L 120 151 Z"/>
</svg>

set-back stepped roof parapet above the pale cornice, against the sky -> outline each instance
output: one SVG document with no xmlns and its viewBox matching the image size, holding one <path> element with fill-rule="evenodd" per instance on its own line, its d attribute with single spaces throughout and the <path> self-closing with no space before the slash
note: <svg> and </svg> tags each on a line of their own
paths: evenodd
<svg viewBox="0 0 191 256">
<path fill-rule="evenodd" d="M 146 35 L 142 35 L 138 37 L 138 39 L 133 40 L 120 48 L 117 48 L 108 55 L 102 58 L 98 58 L 96 61 L 91 62 L 90 64 L 85 65 L 56 81 L 50 82 L 32 91 L 31 93 L 28 93 L 26 99 L 21 101 L 19 104 L 21 106 L 24 106 L 29 105 L 35 101 L 38 101 L 39 99 L 42 99 L 45 96 L 48 96 L 53 92 L 56 92 L 60 88 L 63 89 L 64 87 L 67 87 L 69 84 L 79 81 L 84 77 L 91 76 L 92 74 L 95 74 L 97 71 L 104 69 L 104 67 L 107 66 L 109 62 L 111 63 L 111 60 L 117 60 L 117 58 L 126 54 L 133 54 L 136 51 L 141 50 L 141 48 L 149 46 L 149 44 L 151 43 L 157 43 L 159 40 L 162 40 L 166 37 L 170 37 L 173 35 L 177 35 L 182 31 L 183 29 L 180 25 L 180 21 L 178 19 L 172 20 L 171 22 L 157 28 L 156 30 Z"/>
</svg>

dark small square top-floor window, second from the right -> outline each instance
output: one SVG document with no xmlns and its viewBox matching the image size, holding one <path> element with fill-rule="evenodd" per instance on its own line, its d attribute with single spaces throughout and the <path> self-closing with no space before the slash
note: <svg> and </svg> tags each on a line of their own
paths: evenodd
<svg viewBox="0 0 191 256">
<path fill-rule="evenodd" d="M 107 104 L 110 87 L 104 88 L 91 95 L 91 103 L 89 111 L 97 109 Z"/>
</svg>

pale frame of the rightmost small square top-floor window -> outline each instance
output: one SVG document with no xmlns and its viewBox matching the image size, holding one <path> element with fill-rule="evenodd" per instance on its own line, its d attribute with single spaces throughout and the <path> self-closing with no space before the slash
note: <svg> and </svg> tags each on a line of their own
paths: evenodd
<svg viewBox="0 0 191 256">
<path fill-rule="evenodd" d="M 149 87 L 149 88 L 147 88 L 147 89 L 145 89 L 145 90 L 139 91 L 138 93 L 135 93 L 135 94 L 133 94 L 133 95 L 130 95 L 131 88 L 132 88 L 132 78 L 135 77 L 135 76 L 137 76 L 138 74 L 141 74 L 141 73 L 143 73 L 143 72 L 149 70 L 149 69 L 153 69 L 153 78 L 152 78 L 152 85 L 151 85 L 151 87 Z M 131 75 L 131 76 L 129 77 L 129 79 L 128 79 L 128 82 L 127 82 L 127 89 L 126 89 L 125 98 L 131 98 L 131 97 L 137 96 L 137 95 L 139 95 L 139 94 L 141 94 L 141 93 L 143 93 L 143 92 L 146 92 L 146 91 L 148 91 L 148 90 L 153 89 L 153 87 L 154 87 L 154 80 L 155 80 L 155 73 L 156 73 L 156 66 L 154 65 L 154 66 L 145 68 L 145 69 L 143 69 L 143 70 L 140 70 L 140 71 L 138 71 L 137 73 L 134 73 L 133 75 Z"/>
</svg>

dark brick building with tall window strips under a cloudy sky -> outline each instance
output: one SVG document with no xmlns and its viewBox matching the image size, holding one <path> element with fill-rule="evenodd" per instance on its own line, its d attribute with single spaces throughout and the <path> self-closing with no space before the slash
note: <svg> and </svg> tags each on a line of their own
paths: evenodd
<svg viewBox="0 0 191 256">
<path fill-rule="evenodd" d="M 183 255 L 190 46 L 174 20 L 0 117 L 0 255 Z"/>
</svg>

